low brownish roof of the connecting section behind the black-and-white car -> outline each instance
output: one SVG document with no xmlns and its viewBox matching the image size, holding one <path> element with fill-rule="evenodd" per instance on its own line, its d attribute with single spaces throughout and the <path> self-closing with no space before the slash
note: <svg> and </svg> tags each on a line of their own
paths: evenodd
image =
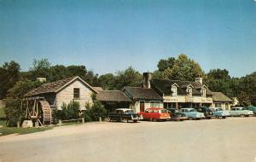
<svg viewBox="0 0 256 162">
<path fill-rule="evenodd" d="M 131 101 L 123 91 L 103 90 L 96 95 L 98 101 Z"/>
</svg>

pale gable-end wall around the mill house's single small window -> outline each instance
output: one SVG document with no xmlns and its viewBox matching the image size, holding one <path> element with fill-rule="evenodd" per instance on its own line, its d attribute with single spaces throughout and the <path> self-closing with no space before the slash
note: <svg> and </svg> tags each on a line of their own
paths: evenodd
<svg viewBox="0 0 256 162">
<path fill-rule="evenodd" d="M 73 98 L 73 89 L 79 88 L 80 89 L 80 98 L 74 99 Z M 56 95 L 56 108 L 61 110 L 61 106 L 63 103 L 70 103 L 70 101 L 78 101 L 80 104 L 80 109 L 85 109 L 85 103 L 92 103 L 91 100 L 91 94 L 94 93 L 90 90 L 89 87 L 87 87 L 85 84 L 83 84 L 80 80 L 74 81 L 72 84 L 69 84 L 66 88 L 61 90 Z"/>
</svg>

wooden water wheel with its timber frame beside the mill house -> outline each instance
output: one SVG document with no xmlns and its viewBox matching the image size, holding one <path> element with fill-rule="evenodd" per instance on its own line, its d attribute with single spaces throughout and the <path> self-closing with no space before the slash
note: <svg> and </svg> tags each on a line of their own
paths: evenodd
<svg viewBox="0 0 256 162">
<path fill-rule="evenodd" d="M 21 107 L 26 107 L 26 119 L 31 119 L 40 125 L 51 124 L 51 109 L 44 97 L 26 98 L 21 102 Z"/>
</svg>

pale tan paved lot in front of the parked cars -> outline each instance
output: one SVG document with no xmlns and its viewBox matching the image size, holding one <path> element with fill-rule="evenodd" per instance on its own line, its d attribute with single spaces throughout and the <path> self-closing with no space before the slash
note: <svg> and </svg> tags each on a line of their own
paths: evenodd
<svg viewBox="0 0 256 162">
<path fill-rule="evenodd" d="M 254 162 L 255 157 L 255 117 L 83 124 L 0 137 L 0 162 Z"/>
</svg>

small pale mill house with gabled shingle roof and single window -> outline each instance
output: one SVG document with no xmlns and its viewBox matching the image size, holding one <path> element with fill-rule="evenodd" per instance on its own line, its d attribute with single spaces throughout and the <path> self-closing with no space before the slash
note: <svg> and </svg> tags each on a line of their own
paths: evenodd
<svg viewBox="0 0 256 162">
<path fill-rule="evenodd" d="M 87 84 L 82 78 L 72 77 L 55 82 L 42 84 L 31 90 L 26 97 L 40 96 L 49 102 L 51 108 L 61 110 L 61 106 L 70 101 L 78 101 L 80 110 L 85 110 L 85 104 L 92 103 L 91 95 L 99 92 Z"/>
</svg>

